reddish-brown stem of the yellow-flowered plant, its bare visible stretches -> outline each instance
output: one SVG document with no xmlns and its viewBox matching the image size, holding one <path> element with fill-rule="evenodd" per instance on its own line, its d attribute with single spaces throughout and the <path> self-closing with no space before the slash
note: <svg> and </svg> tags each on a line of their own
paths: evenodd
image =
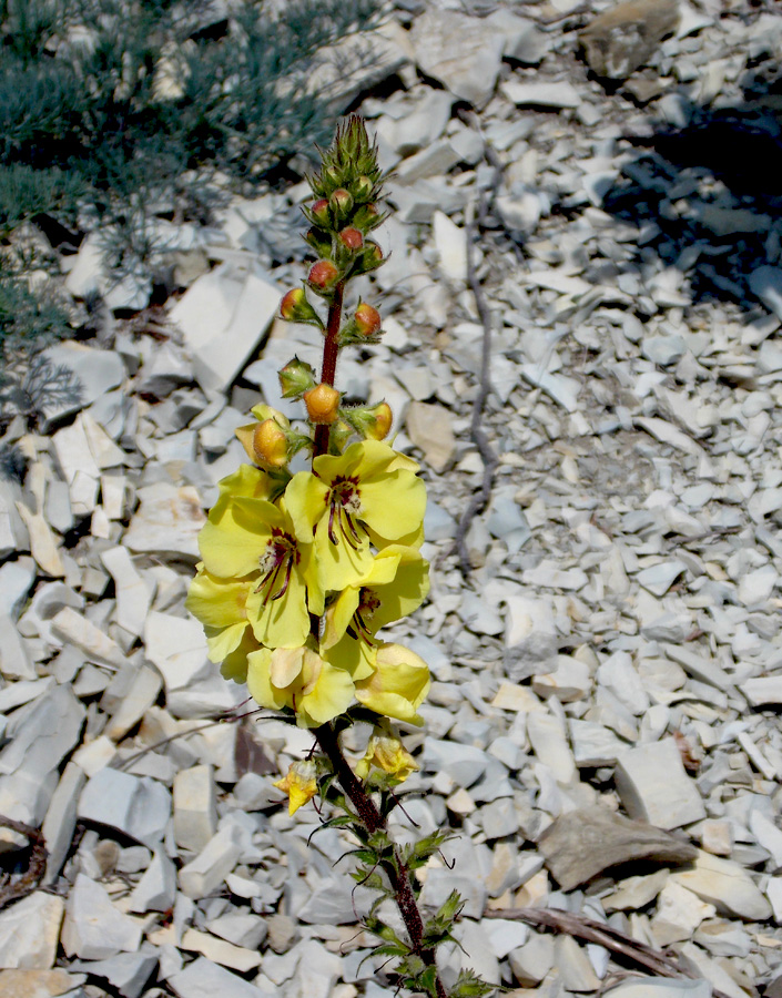
<svg viewBox="0 0 782 998">
<path fill-rule="evenodd" d="M 342 320 L 342 302 L 345 291 L 345 282 L 341 281 L 334 289 L 334 297 L 328 306 L 328 322 L 326 324 L 326 339 L 323 345 L 323 366 L 321 368 L 321 381 L 334 387 L 334 376 L 337 369 L 337 356 L 339 355 L 339 323 Z M 329 427 L 321 424 L 315 427 L 315 438 L 313 440 L 313 458 L 322 454 L 328 454 L 328 434 Z M 313 618 L 312 633 L 315 641 L 319 635 L 319 621 Z M 378 828 L 386 827 L 386 818 L 375 806 L 375 802 L 364 788 L 360 780 L 353 772 L 347 760 L 342 754 L 339 742 L 334 733 L 331 724 L 324 724 L 316 727 L 313 732 L 317 739 L 317 743 L 332 764 L 332 768 L 336 774 L 339 785 L 347 795 L 348 800 L 356 809 L 359 821 L 367 832 L 377 832 Z M 424 921 L 418 910 L 415 894 L 413 893 L 413 884 L 410 883 L 410 872 L 407 866 L 402 863 L 397 851 L 396 863 L 386 863 L 383 868 L 388 876 L 392 889 L 396 895 L 396 903 L 399 907 L 407 934 L 410 937 L 410 946 L 413 951 L 417 954 L 427 967 L 435 965 L 435 950 L 425 949 L 424 941 Z M 448 998 L 448 994 L 440 981 L 439 975 L 436 981 L 437 998 Z"/>
</svg>

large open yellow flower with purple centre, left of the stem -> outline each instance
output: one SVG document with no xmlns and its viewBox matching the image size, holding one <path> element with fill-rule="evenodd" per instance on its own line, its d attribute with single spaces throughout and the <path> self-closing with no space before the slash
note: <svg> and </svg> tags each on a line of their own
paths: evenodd
<svg viewBox="0 0 782 998">
<path fill-rule="evenodd" d="M 296 538 L 284 500 L 274 506 L 265 499 L 221 497 L 199 534 L 199 548 L 210 576 L 223 585 L 247 585 L 246 615 L 261 644 L 304 643 L 309 633 L 307 587 L 314 589 L 316 603 L 322 604 L 323 598 L 317 593 L 313 544 Z M 204 595 L 199 611 L 193 611 L 201 620 L 210 597 L 224 598 L 222 590 Z"/>
</svg>

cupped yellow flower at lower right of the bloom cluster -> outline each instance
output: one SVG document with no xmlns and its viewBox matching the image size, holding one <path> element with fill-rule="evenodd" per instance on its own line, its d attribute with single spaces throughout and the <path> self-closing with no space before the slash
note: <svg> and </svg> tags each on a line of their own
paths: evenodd
<svg viewBox="0 0 782 998">
<path fill-rule="evenodd" d="M 429 692 L 429 668 L 400 644 L 382 644 L 375 653 L 375 671 L 356 683 L 356 700 L 377 714 L 423 724 L 418 707 Z"/>
</svg>

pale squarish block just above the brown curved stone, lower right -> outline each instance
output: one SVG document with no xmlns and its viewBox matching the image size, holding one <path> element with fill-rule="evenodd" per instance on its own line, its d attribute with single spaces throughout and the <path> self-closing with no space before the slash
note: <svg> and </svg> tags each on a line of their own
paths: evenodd
<svg viewBox="0 0 782 998">
<path fill-rule="evenodd" d="M 631 817 L 659 828 L 678 828 L 705 817 L 692 780 L 684 772 L 673 739 L 650 742 L 619 756 L 617 791 Z"/>
</svg>

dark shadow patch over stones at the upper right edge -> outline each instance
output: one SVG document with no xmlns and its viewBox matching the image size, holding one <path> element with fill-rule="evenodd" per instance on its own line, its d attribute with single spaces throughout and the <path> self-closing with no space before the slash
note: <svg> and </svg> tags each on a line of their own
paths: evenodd
<svg viewBox="0 0 782 998">
<path fill-rule="evenodd" d="M 631 265 L 654 253 L 684 274 L 692 304 L 754 310 L 750 275 L 782 256 L 782 71 L 769 62 L 748 69 L 741 88 L 734 106 L 682 98 L 669 115 L 685 122 L 677 126 L 650 105 L 651 131 L 622 140 L 636 154 L 602 208 L 639 230 Z"/>
</svg>

